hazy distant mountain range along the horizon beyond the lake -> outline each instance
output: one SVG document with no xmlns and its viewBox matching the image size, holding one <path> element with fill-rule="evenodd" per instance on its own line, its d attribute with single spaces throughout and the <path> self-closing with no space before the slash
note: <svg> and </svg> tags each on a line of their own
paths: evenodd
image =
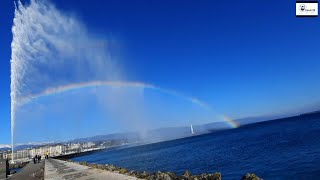
<svg viewBox="0 0 320 180">
<path fill-rule="evenodd" d="M 303 114 L 292 114 L 291 116 L 299 116 L 299 115 L 303 116 L 303 115 L 310 115 L 310 114 L 317 114 L 317 113 L 320 113 L 320 110 L 303 113 Z M 286 117 L 288 116 L 273 115 L 273 116 L 263 116 L 263 117 L 248 117 L 248 118 L 237 119 L 234 121 L 238 122 L 240 125 L 246 125 L 246 124 L 257 123 L 262 121 L 278 120 Z M 214 123 L 208 123 L 203 125 L 193 125 L 193 130 L 195 134 L 205 134 L 205 133 L 220 131 L 225 129 L 230 129 L 229 125 L 227 125 L 225 122 L 214 122 Z M 68 141 L 67 143 L 106 142 L 106 141 L 119 141 L 119 142 L 127 142 L 127 143 L 134 143 L 134 142 L 150 143 L 150 142 L 160 142 L 165 140 L 178 139 L 178 138 L 183 138 L 188 136 L 192 136 L 190 126 L 159 128 L 159 129 L 149 130 L 144 133 L 128 132 L 128 133 L 97 135 L 92 137 L 74 139 L 74 140 Z M 15 150 L 37 147 L 45 144 L 57 144 L 57 143 L 50 142 L 50 143 L 19 144 L 15 146 Z M 11 149 L 10 145 L 6 145 L 6 144 L 0 145 L 0 151 L 10 150 L 10 149 Z"/>
</svg>

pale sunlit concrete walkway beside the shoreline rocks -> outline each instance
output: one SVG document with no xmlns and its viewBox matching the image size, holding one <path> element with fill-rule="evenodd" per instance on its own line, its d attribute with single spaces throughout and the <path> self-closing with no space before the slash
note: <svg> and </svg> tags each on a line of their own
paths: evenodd
<svg viewBox="0 0 320 180">
<path fill-rule="evenodd" d="M 45 180 L 60 180 L 60 179 L 79 179 L 79 180 L 93 180 L 93 179 L 108 179 L 108 180 L 136 180 L 137 178 L 109 172 L 100 169 L 93 169 L 87 166 L 76 163 L 61 161 L 57 159 L 45 160 Z"/>
</svg>

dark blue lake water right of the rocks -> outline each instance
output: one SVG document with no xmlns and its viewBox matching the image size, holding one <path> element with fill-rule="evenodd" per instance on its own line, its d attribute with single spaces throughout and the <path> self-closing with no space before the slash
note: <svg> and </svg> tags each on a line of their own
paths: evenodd
<svg viewBox="0 0 320 180">
<path fill-rule="evenodd" d="M 106 150 L 73 160 L 149 172 L 221 172 L 223 179 L 241 179 L 247 172 L 264 179 L 320 179 L 320 114 Z"/>
</svg>

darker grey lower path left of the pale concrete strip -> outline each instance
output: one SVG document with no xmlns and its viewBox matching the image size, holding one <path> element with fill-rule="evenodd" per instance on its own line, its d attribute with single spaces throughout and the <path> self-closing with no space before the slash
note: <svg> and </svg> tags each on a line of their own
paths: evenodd
<svg viewBox="0 0 320 180">
<path fill-rule="evenodd" d="M 44 160 L 40 163 L 33 164 L 29 162 L 20 172 L 9 177 L 10 180 L 39 180 L 43 179 Z"/>
</svg>

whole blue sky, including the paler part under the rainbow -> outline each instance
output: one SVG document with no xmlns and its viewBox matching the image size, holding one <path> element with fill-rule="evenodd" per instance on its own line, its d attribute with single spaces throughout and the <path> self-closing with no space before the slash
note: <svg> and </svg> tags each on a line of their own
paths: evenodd
<svg viewBox="0 0 320 180">
<path fill-rule="evenodd" d="M 147 112 L 137 114 L 143 119 L 138 122 L 146 124 L 145 127 L 134 121 L 119 120 L 128 118 L 125 115 L 129 110 L 119 113 L 101 100 L 114 100 L 115 87 L 75 88 L 56 97 L 39 98 L 18 115 L 18 129 L 28 127 L 29 131 L 32 127 L 29 122 L 32 122 L 42 130 L 30 132 L 26 137 L 18 132 L 21 141 L 72 139 L 140 127 L 146 131 L 150 127 L 182 126 L 190 122 L 196 125 L 219 120 L 220 116 L 239 119 L 320 109 L 319 18 L 296 18 L 292 1 L 49 2 L 62 14 L 75 17 L 99 39 L 90 46 L 108 48 L 110 57 L 121 67 L 124 81 L 151 84 L 164 91 L 120 90 L 123 99 L 117 107 L 126 106 L 132 93 L 143 94 L 142 98 L 133 98 L 134 103 L 126 107 L 135 115 L 136 111 Z M 22 1 L 22 4 L 29 4 L 29 1 Z M 274 9 L 274 4 L 279 8 Z M 9 144 L 14 3 L 1 1 L 0 7 L 0 144 Z M 230 8 L 229 13 L 217 7 Z M 68 73 L 62 74 L 68 76 Z M 174 93 L 167 93 L 167 90 Z M 92 94 L 99 92 L 111 94 L 92 100 Z M 192 98 L 208 104 L 215 112 L 194 107 Z M 108 111 L 96 105 L 97 102 Z M 148 110 L 136 107 L 135 103 L 146 105 Z M 105 114 L 115 111 L 121 116 Z M 41 118 L 47 120 L 41 121 Z M 77 120 L 66 122 L 68 118 Z M 118 120 L 117 123 L 93 120 L 105 118 Z M 65 122 L 65 128 L 78 128 L 79 132 L 66 132 L 55 122 Z"/>
</svg>

